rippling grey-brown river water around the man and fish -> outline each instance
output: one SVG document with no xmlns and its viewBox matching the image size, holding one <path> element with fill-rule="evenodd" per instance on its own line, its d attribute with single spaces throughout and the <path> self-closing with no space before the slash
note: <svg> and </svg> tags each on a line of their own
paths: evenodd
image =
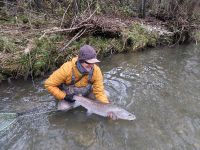
<svg viewBox="0 0 200 150">
<path fill-rule="evenodd" d="M 1 133 L 0 150 L 200 150 L 200 46 L 118 54 L 100 66 L 110 100 L 136 120 L 83 108 L 22 116 Z M 1 83 L 0 111 L 55 108 L 42 83 Z"/>
</svg>

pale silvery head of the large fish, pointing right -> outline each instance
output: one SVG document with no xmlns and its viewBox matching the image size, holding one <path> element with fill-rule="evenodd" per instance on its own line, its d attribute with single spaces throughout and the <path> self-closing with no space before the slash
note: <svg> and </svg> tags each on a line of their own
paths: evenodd
<svg viewBox="0 0 200 150">
<path fill-rule="evenodd" d="M 135 120 L 136 119 L 134 114 L 132 114 L 124 109 L 118 109 L 118 111 L 115 112 L 115 115 L 117 116 L 117 118 L 123 119 L 123 120 Z"/>
</svg>

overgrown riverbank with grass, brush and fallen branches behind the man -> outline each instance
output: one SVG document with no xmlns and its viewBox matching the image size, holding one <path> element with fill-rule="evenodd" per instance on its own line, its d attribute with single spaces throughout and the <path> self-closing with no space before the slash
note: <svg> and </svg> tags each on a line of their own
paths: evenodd
<svg viewBox="0 0 200 150">
<path fill-rule="evenodd" d="M 118 7 L 117 2 L 97 2 L 94 6 L 84 3 L 81 7 L 85 9 L 78 14 L 73 12 L 72 3 L 58 2 L 55 8 L 42 5 L 42 11 L 37 10 L 38 4 L 22 4 L 3 5 L 0 9 L 0 81 L 43 76 L 77 55 L 83 44 L 94 46 L 98 57 L 105 57 L 158 45 L 172 46 L 188 39 L 200 41 L 197 27 L 189 33 L 196 25 L 188 20 L 181 22 L 183 18 L 176 16 L 173 22 L 169 17 L 158 19 L 165 14 L 156 16 L 151 10 L 145 19 L 139 19 L 128 4 Z M 13 14 L 12 9 L 17 13 Z"/>
</svg>

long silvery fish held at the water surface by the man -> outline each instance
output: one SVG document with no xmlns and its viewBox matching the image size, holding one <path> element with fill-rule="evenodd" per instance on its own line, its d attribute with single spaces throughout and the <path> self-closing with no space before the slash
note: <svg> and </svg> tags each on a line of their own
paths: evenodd
<svg viewBox="0 0 200 150">
<path fill-rule="evenodd" d="M 82 106 L 87 109 L 87 112 L 89 114 L 94 113 L 103 117 L 107 117 L 109 113 L 112 113 L 112 115 L 114 115 L 118 119 L 123 119 L 123 120 L 136 119 L 134 114 L 116 105 L 100 103 L 77 95 L 75 95 L 73 99 L 76 100 L 74 107 Z"/>
</svg>

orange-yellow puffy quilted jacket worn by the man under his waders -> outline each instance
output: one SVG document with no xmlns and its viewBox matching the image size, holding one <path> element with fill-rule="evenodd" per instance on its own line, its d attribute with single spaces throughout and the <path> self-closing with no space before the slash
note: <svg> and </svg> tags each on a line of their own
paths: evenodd
<svg viewBox="0 0 200 150">
<path fill-rule="evenodd" d="M 59 69 L 54 71 L 52 75 L 45 81 L 45 88 L 54 95 L 58 100 L 63 100 L 66 93 L 58 88 L 59 85 L 65 83 L 69 85 L 72 80 L 72 68 L 74 69 L 75 80 L 78 80 L 82 75 L 76 67 L 77 57 L 71 61 L 64 63 Z M 94 71 L 92 75 L 92 91 L 97 100 L 103 103 L 109 103 L 107 96 L 104 92 L 103 76 L 100 68 L 94 65 Z M 88 84 L 88 75 L 84 76 L 80 81 L 75 83 L 76 87 L 84 87 Z"/>
</svg>

